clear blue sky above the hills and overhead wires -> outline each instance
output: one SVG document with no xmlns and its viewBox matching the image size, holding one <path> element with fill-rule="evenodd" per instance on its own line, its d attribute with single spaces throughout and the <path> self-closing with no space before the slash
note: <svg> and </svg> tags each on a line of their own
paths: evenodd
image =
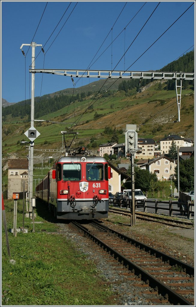
<svg viewBox="0 0 196 307">
<path fill-rule="evenodd" d="M 112 39 L 114 40 L 122 31 L 121 35 L 90 67 L 101 70 L 114 69 L 159 2 L 147 1 L 143 6 L 144 3 L 143 1 L 49 1 L 48 3 L 45 1 L 1 1 L 2 98 L 10 103 L 24 100 L 25 80 L 26 99 L 31 96 L 31 94 L 29 96 L 31 48 L 23 47 L 26 57 L 22 55 L 20 49 L 22 44 L 30 44 L 31 41 L 42 44 L 45 50 L 44 56 L 40 52 L 41 48 L 36 47 L 35 55 L 40 53 L 35 60 L 35 68 L 86 69 L 108 33 L 107 39 L 93 62 L 111 44 Z M 194 2 L 161 1 L 115 69 L 124 70 L 125 68 L 126 70 L 192 3 Z M 139 11 L 142 6 L 143 8 Z M 67 12 L 49 39 L 67 8 Z M 139 13 L 131 21 L 138 11 Z M 116 21 L 119 14 L 120 17 Z M 186 53 L 186 50 L 194 45 L 194 14 L 195 3 L 129 70 L 161 69 L 184 52 Z M 129 22 L 130 24 L 127 25 Z M 74 80 L 75 83 L 77 80 Z M 77 82 L 76 87 L 97 80 L 82 78 Z M 43 74 L 42 79 L 41 74 L 35 75 L 35 96 L 72 87 L 70 77 Z"/>
</svg>

